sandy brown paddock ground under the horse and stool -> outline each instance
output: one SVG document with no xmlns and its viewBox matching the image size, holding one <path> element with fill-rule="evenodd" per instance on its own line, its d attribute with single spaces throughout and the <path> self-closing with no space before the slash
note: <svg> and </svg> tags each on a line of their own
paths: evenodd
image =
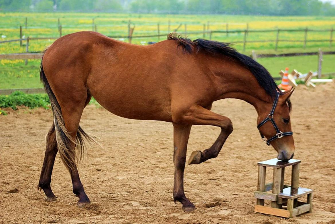
<svg viewBox="0 0 335 224">
<path fill-rule="evenodd" d="M 314 211 L 292 219 L 254 212 L 257 162 L 276 157 L 260 139 L 254 108 L 239 100 L 215 102 L 234 131 L 218 158 L 187 165 L 185 190 L 197 209 L 174 204 L 173 129 L 170 123 L 129 120 L 90 105 L 81 125 L 101 139 L 79 172 L 92 204 L 77 208 L 70 176 L 57 156 L 52 188 L 57 201 L 38 191 L 50 110 L 20 109 L 0 116 L 0 223 L 335 223 L 335 85 L 300 87 L 292 96 L 295 159 L 300 186 L 315 190 Z M 208 148 L 219 128 L 193 126 L 188 156 Z M 289 169 L 286 170 L 289 183 Z M 267 182 L 270 182 L 271 171 Z"/>
</svg>

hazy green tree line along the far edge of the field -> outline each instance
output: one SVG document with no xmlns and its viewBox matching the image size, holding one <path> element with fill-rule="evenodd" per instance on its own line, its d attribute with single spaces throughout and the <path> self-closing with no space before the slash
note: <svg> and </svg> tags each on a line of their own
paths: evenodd
<svg viewBox="0 0 335 224">
<path fill-rule="evenodd" d="M 335 16 L 320 0 L 0 0 L 0 11 Z"/>
</svg>

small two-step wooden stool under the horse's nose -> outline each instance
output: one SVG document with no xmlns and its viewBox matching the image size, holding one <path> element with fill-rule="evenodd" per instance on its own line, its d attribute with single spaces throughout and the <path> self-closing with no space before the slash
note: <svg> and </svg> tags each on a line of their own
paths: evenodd
<svg viewBox="0 0 335 224">
<path fill-rule="evenodd" d="M 299 187 L 300 160 L 283 162 L 271 159 L 258 163 L 258 183 L 255 198 L 255 212 L 292 218 L 305 212 L 312 212 L 313 190 Z M 291 185 L 284 185 L 285 167 L 292 166 Z M 266 167 L 273 167 L 273 182 L 265 184 Z M 267 191 L 270 191 L 267 192 Z M 307 194 L 307 203 L 298 198 Z M 271 201 L 271 207 L 264 206 L 264 200 Z M 283 208 L 282 206 L 286 206 Z"/>
</svg>

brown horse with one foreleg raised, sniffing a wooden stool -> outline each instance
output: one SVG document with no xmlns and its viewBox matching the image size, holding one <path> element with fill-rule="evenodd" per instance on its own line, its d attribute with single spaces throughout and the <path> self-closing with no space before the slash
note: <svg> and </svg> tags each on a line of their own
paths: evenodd
<svg viewBox="0 0 335 224">
<path fill-rule="evenodd" d="M 280 92 L 262 65 L 229 44 L 191 41 L 174 34 L 167 39 L 139 46 L 94 32 L 78 32 L 59 38 L 45 51 L 41 80 L 51 101 L 54 122 L 47 134 L 38 186 L 44 190 L 47 201 L 56 200 L 50 183 L 59 152 L 71 174 L 78 206 L 90 203 L 76 164 L 83 154 L 84 139 L 92 140 L 79 126 L 83 109 L 92 96 L 118 116 L 173 123 L 173 197 L 185 211 L 195 209 L 186 198 L 183 185 L 191 126 L 214 125 L 221 132 L 209 149 L 193 152 L 189 164 L 215 158 L 233 130 L 228 117 L 210 110 L 213 101 L 237 98 L 252 104 L 258 123 L 267 117 L 271 120 L 259 129 L 267 139 L 277 136 L 271 145 L 278 152 L 278 159 L 287 161 L 293 157 L 293 137 L 281 138 L 278 132 L 291 131 L 291 91 Z M 276 107 L 270 116 L 274 101 Z"/>
</svg>

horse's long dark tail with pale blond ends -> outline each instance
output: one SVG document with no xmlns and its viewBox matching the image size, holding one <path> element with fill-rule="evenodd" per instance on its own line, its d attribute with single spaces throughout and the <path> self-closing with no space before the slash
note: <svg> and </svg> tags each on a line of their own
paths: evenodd
<svg viewBox="0 0 335 224">
<path fill-rule="evenodd" d="M 43 56 L 42 56 L 43 61 Z M 71 172 L 76 169 L 76 164 L 81 161 L 84 156 L 86 149 L 85 141 L 86 139 L 89 142 L 96 143 L 84 130 L 79 126 L 76 139 L 74 140 L 70 133 L 65 128 L 65 122 L 62 115 L 61 107 L 56 99 L 55 94 L 53 93 L 47 77 L 45 76 L 43 65 L 41 61 L 40 68 L 40 80 L 44 85 L 44 89 L 47 92 L 50 104 L 54 116 L 54 127 L 56 131 L 56 142 L 59 155 L 65 165 L 65 167 Z M 74 147 L 75 146 L 75 147 Z"/>
</svg>

